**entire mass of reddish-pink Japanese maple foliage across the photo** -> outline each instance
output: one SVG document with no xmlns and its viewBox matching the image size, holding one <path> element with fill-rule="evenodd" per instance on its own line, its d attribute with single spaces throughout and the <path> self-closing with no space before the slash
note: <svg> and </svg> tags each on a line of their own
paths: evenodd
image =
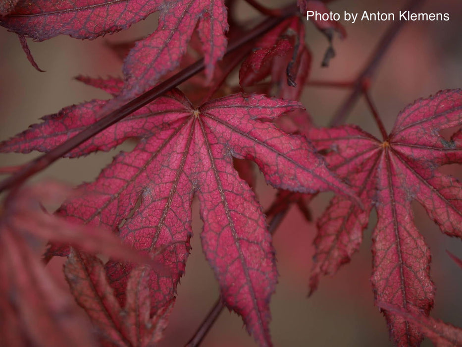
<svg viewBox="0 0 462 347">
<path fill-rule="evenodd" d="M 231 7 L 233 1 L 226 4 Z M 329 12 L 323 1 L 298 4 L 304 15 L 307 10 Z M 95 344 L 68 295 L 57 289 L 35 258 L 30 240 L 43 238 L 52 242 L 47 259 L 68 256 L 64 273 L 71 292 L 97 327 L 103 346 L 155 344 L 184 273 L 192 235 L 191 203 L 197 196 L 203 248 L 223 302 L 242 316 L 259 345 L 271 345 L 269 300 L 277 271 L 264 216 L 251 189 L 255 162 L 266 181 L 279 189 L 268 215 L 284 214 L 297 204 L 310 220 L 308 204 L 318 191 L 338 194 L 317 221 L 310 292 L 320 276 L 350 261 L 375 207 L 372 285 L 392 340 L 416 346 L 424 334 L 437 345 L 460 345 L 460 329 L 428 316 L 434 296 L 430 253 L 414 226 L 411 202 L 420 202 L 442 231 L 462 236 L 462 185 L 437 171 L 462 160 L 462 130 L 450 141 L 438 134 L 462 124 L 462 92 L 448 90 L 418 100 L 400 113 L 382 141 L 357 126 L 315 128 L 301 104 L 292 101 L 299 99 L 311 64 L 303 21 L 295 11 L 281 17 L 253 47 L 250 41 L 242 43 L 234 57 L 225 58 L 228 22 L 233 24 L 230 39 L 239 38 L 244 26 L 228 20 L 224 0 L 0 0 L 0 24 L 19 35 L 27 58 L 39 69 L 26 37 L 95 39 L 127 29 L 155 11 L 160 14 L 153 34 L 112 45 L 124 58 L 123 80 L 77 78 L 103 89 L 112 100 L 64 108 L 0 143 L 5 153 L 51 151 L 108 110 L 193 63 L 196 57 L 188 45 L 204 56 L 205 75 L 192 77 L 183 92 L 164 93 L 67 152 L 67 157 L 81 157 L 129 138 L 137 141 L 134 150 L 118 154 L 94 182 L 81 186 L 85 195 L 72 196 L 54 215 L 43 211 L 38 201 L 67 194 L 60 185 L 13 191 L 5 200 L 0 274 L 8 281 L 0 281 L 1 296 L 20 289 L 15 302 L 0 300 L 2 311 L 12 317 L 1 326 L 6 341 L 13 344 L 25 332 L 27 336 L 17 340 L 19 346 Z M 332 20 L 314 20 L 314 25 L 329 40 L 323 60 L 327 65 L 334 56 L 333 33 L 343 38 L 346 32 Z M 242 59 L 241 88 L 278 99 L 231 94 L 239 86 L 222 86 Z M 225 96 L 210 100 L 213 93 Z M 193 106 L 199 100 L 200 106 Z M 282 114 L 285 117 L 279 117 Z M 110 259 L 103 263 L 90 253 Z M 460 265 L 460 259 L 450 256 Z M 62 312 L 68 316 L 57 319 Z M 35 325 L 36 320 L 41 323 Z"/>
</svg>

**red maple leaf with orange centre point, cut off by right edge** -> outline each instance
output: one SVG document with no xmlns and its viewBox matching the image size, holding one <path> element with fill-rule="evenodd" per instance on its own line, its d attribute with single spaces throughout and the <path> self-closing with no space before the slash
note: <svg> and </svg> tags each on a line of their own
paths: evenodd
<svg viewBox="0 0 462 347">
<path fill-rule="evenodd" d="M 386 139 L 380 141 L 356 126 L 311 129 L 318 150 L 327 151 L 329 167 L 355 187 L 365 209 L 334 197 L 318 222 L 311 290 L 322 274 L 332 274 L 359 248 L 373 206 L 372 285 L 375 300 L 417 314 L 433 306 L 430 252 L 413 223 L 417 200 L 441 231 L 462 236 L 462 184 L 437 171 L 461 163 L 457 134 L 446 141 L 438 131 L 462 124 L 462 91 L 446 90 L 404 109 Z M 418 312 L 417 312 L 418 311 Z M 398 346 L 416 346 L 419 328 L 384 310 Z"/>
</svg>

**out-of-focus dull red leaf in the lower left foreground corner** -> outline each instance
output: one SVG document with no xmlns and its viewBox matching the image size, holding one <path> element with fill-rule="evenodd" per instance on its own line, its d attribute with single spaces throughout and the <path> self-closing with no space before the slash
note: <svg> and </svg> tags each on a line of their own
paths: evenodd
<svg viewBox="0 0 462 347">
<path fill-rule="evenodd" d="M 5 346 L 96 346 L 91 327 L 74 304 L 72 296 L 59 288 L 55 279 L 44 268 L 39 257 L 41 245 L 44 245 L 41 238 L 71 243 L 79 249 L 104 253 L 118 259 L 145 260 L 139 252 L 123 245 L 110 232 L 71 223 L 44 210 L 42 203 L 56 203 L 68 193 L 72 193 L 71 189 L 63 184 L 42 182 L 35 186 L 22 187 L 4 201 L 0 222 L 0 308 L 1 336 Z M 77 250 L 73 250 L 72 255 L 96 259 L 95 264 L 101 263 L 97 258 Z M 89 262 L 86 265 L 92 264 Z M 145 269 L 143 271 L 146 272 L 146 268 L 140 269 Z M 162 270 L 158 267 L 157 269 Z M 139 270 L 134 272 L 132 282 L 143 281 L 143 276 Z M 81 281 L 80 285 L 87 283 L 88 280 Z M 132 284 L 134 285 L 136 286 L 136 282 Z M 131 295 L 139 295 L 136 289 L 132 292 Z M 95 302 L 103 302 L 108 299 L 108 294 L 96 297 L 95 291 L 82 292 L 79 303 L 82 304 L 82 301 L 88 301 L 92 297 Z M 114 300 L 116 301 L 115 298 Z M 136 313 L 132 306 L 133 304 L 127 304 L 123 313 Z M 96 307 L 98 306 L 93 305 L 90 311 L 94 312 Z M 142 305 L 137 307 L 141 308 Z M 115 318 L 121 320 L 124 317 L 120 314 Z M 158 319 L 149 323 L 152 330 L 157 329 L 158 336 L 158 330 L 164 324 Z M 105 329 L 108 327 L 110 325 Z M 135 325 L 132 329 L 135 329 Z"/>
</svg>

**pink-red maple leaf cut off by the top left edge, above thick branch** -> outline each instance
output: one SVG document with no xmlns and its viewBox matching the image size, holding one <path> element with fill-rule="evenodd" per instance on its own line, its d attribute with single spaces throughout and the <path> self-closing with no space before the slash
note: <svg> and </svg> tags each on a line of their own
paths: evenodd
<svg viewBox="0 0 462 347">
<path fill-rule="evenodd" d="M 59 34 L 95 39 L 127 29 L 159 10 L 157 29 L 137 42 L 125 60 L 124 97 L 138 96 L 175 68 L 196 26 L 204 45 L 205 70 L 211 78 L 227 45 L 223 0 L 20 0 L 11 13 L 0 17 L 0 24 L 37 41 Z"/>
</svg>

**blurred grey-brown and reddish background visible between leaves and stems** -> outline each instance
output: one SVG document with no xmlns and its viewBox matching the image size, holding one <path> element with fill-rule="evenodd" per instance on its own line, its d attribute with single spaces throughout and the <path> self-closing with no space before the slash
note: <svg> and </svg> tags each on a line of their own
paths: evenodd
<svg viewBox="0 0 462 347">
<path fill-rule="evenodd" d="M 250 6 L 239 2 L 236 13 L 243 19 L 258 18 Z M 272 1 L 274 6 L 287 1 Z M 266 2 L 268 3 L 268 2 Z M 333 11 L 398 13 L 403 0 L 339 0 L 330 5 Z M 397 114 L 416 98 L 428 97 L 441 89 L 462 87 L 462 1 L 425 1 L 420 12 L 448 12 L 448 22 L 409 22 L 400 32 L 381 63 L 371 88 L 371 95 L 387 130 Z M 155 14 L 129 30 L 94 41 L 57 37 L 43 43 L 30 43 L 38 65 L 47 72 L 37 72 L 27 61 L 19 41 L 0 28 L 0 139 L 6 139 L 37 122 L 44 115 L 62 107 L 94 98 L 107 98 L 101 91 L 75 81 L 78 74 L 121 76 L 120 60 L 107 43 L 136 39 L 156 27 Z M 328 68 L 321 68 L 327 42 L 307 23 L 307 42 L 313 62 L 311 78 L 351 80 L 359 73 L 389 22 L 343 23 L 348 33 L 344 41 L 334 40 L 337 56 Z M 302 102 L 316 124 L 325 125 L 348 91 L 307 87 Z M 362 101 L 355 107 L 348 123 L 359 124 L 374 135 L 379 131 Z M 120 151 L 130 150 L 125 143 L 109 153 L 90 155 L 79 160 L 61 159 L 34 181 L 53 177 L 71 184 L 93 180 L 104 165 Z M 28 155 L 1 154 L 1 166 L 19 165 L 35 158 Z M 459 165 L 441 169 L 462 178 Z M 263 208 L 268 207 L 274 189 L 258 178 L 257 195 Z M 311 204 L 314 218 L 325 208 L 331 194 L 320 194 Z M 195 236 L 186 266 L 186 275 L 178 287 L 178 297 L 165 339 L 160 346 L 182 346 L 199 327 L 218 296 L 218 286 L 202 254 L 201 221 L 198 204 L 193 205 Z M 432 253 L 431 276 L 436 284 L 434 317 L 462 327 L 462 271 L 446 254 L 446 249 L 462 257 L 460 240 L 444 236 L 414 204 L 415 222 Z M 297 209 L 292 209 L 274 235 L 279 269 L 279 284 L 271 301 L 271 334 L 276 346 L 391 346 L 385 319 L 373 305 L 370 234 L 375 226 L 372 213 L 369 228 L 359 253 L 333 278 L 322 278 L 319 289 L 310 297 L 308 277 L 313 255 L 314 224 L 308 224 Z M 62 262 L 51 264 L 56 271 Z M 62 283 L 65 286 L 65 283 Z M 206 336 L 202 346 L 256 346 L 243 328 L 242 320 L 227 310 Z M 424 346 L 431 346 L 428 341 Z"/>
</svg>

